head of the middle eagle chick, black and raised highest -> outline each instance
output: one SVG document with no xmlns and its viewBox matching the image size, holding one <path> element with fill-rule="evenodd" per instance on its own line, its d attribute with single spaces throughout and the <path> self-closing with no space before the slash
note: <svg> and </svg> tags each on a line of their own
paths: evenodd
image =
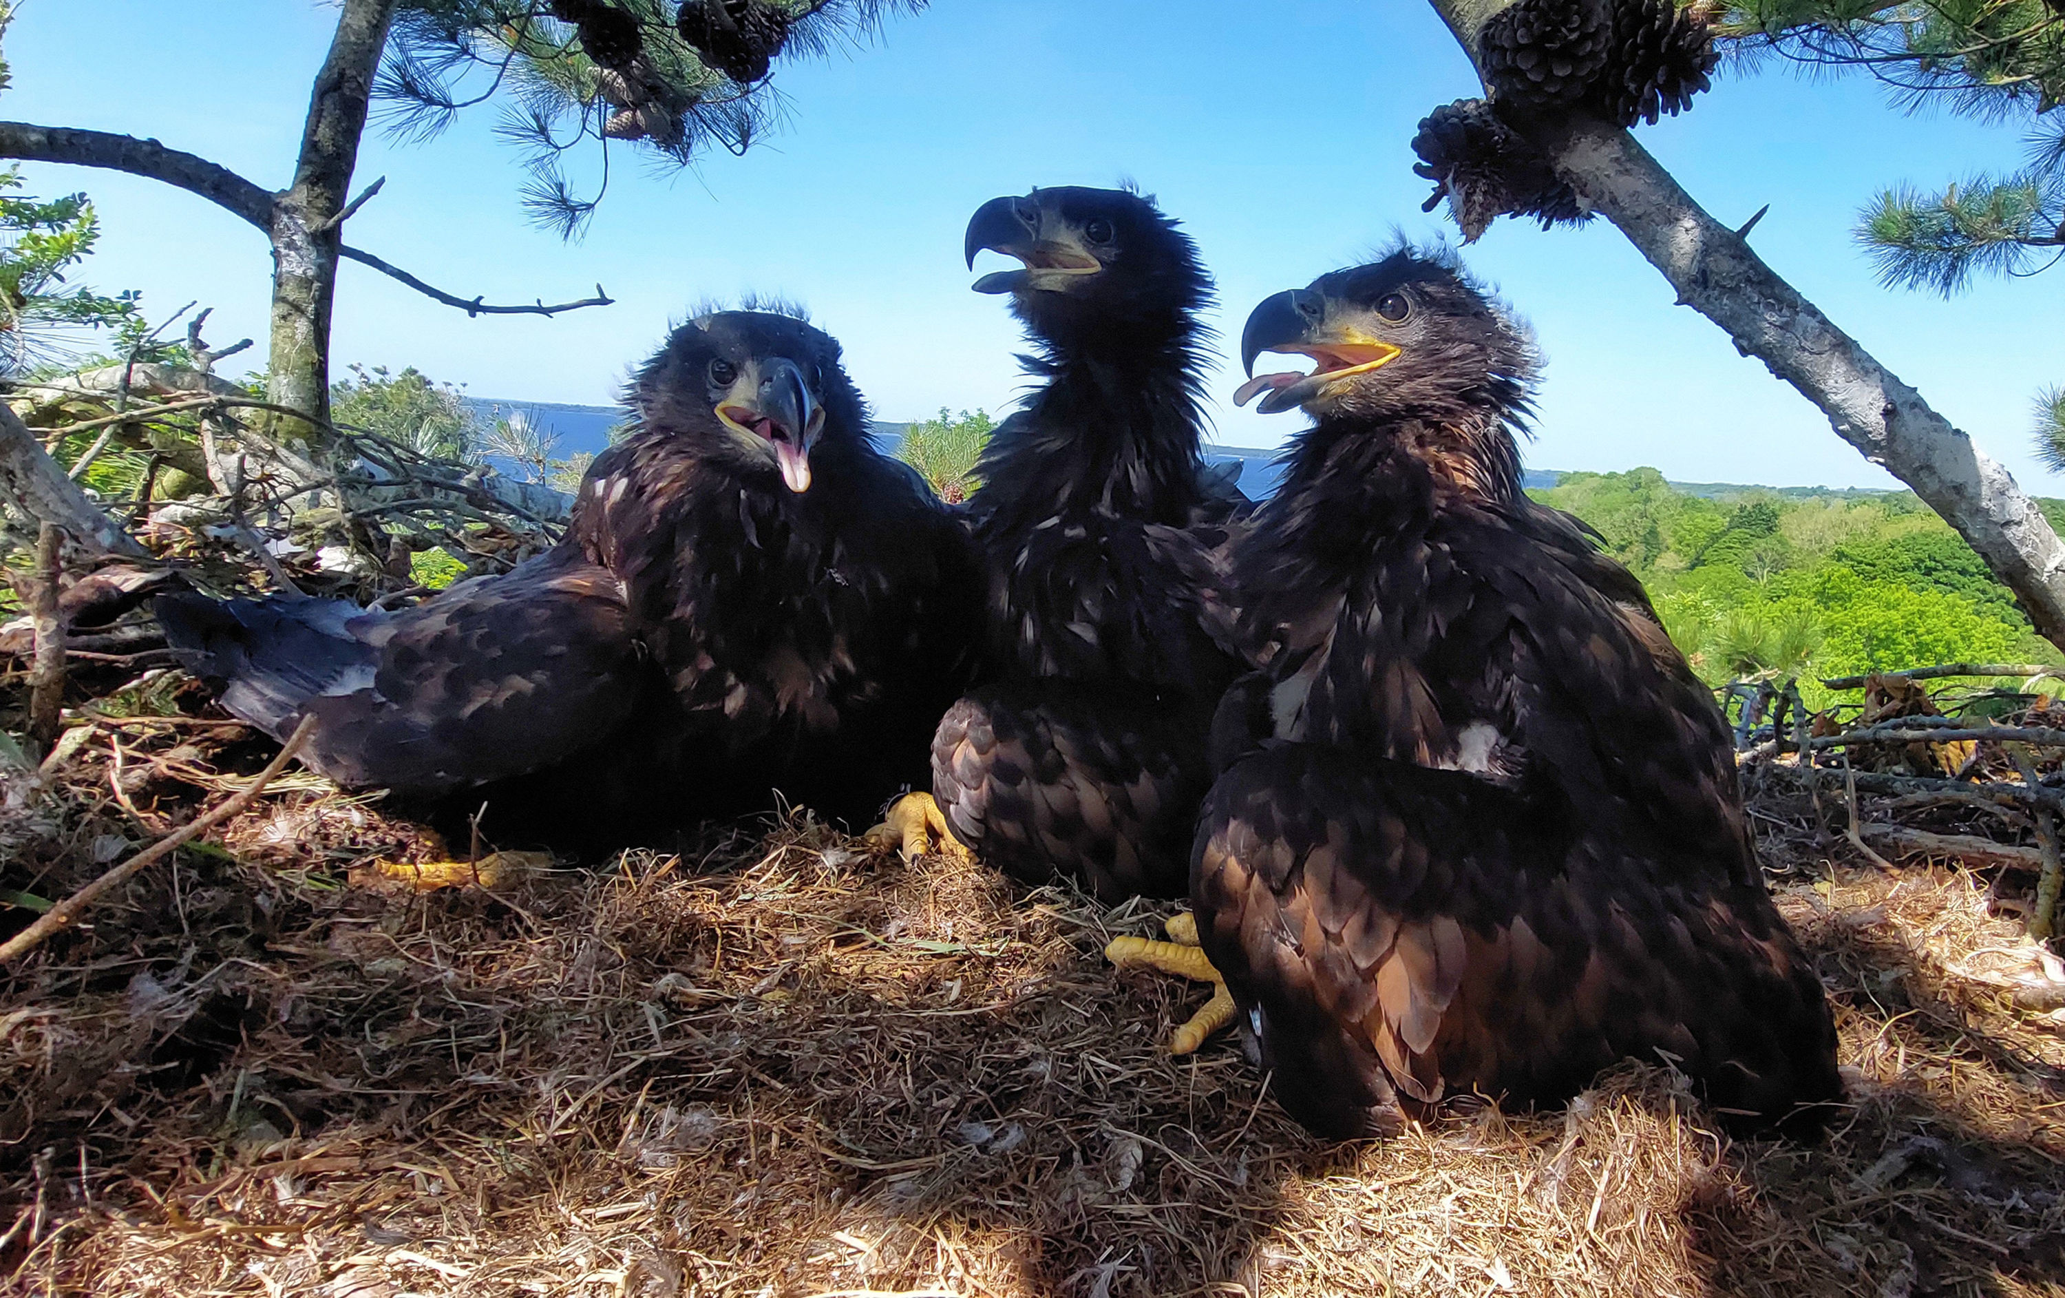
<svg viewBox="0 0 2065 1298">
<path fill-rule="evenodd" d="M 1132 190 L 1055 186 L 1022 198 L 991 198 L 964 240 L 1022 265 L 975 281 L 977 293 L 1010 293 L 1012 314 L 1039 337 L 1070 345 L 1101 337 L 1167 341 L 1192 329 L 1212 285 L 1198 246 L 1154 200 Z"/>
</svg>

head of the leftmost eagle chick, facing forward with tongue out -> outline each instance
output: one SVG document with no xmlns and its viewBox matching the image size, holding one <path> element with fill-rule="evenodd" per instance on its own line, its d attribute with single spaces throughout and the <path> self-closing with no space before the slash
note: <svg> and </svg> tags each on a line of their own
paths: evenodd
<svg viewBox="0 0 2065 1298">
<path fill-rule="evenodd" d="M 824 440 L 865 436 L 861 395 L 838 341 L 793 314 L 698 314 L 632 378 L 642 432 L 684 438 L 710 465 L 768 488 L 809 490 Z"/>
</svg>

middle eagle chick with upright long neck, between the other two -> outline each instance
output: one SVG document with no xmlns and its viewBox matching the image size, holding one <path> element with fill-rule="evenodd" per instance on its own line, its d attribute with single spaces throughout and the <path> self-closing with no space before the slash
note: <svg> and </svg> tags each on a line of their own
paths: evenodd
<svg viewBox="0 0 2065 1298">
<path fill-rule="evenodd" d="M 1212 529 L 1245 506 L 1198 453 L 1210 285 L 1175 221 L 1123 190 L 995 198 L 968 262 L 985 248 L 1024 262 L 975 287 L 1012 296 L 1043 387 L 977 469 L 985 678 L 940 723 L 933 792 L 1014 876 L 1179 895 L 1210 709 L 1237 672 L 1198 585 Z"/>
</svg>

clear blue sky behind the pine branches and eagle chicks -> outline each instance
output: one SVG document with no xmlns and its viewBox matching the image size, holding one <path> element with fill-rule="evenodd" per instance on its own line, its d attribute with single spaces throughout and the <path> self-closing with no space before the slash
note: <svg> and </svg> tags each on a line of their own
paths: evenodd
<svg viewBox="0 0 2065 1298">
<path fill-rule="evenodd" d="M 25 0 L 0 116 L 151 134 L 279 186 L 299 145 L 335 8 L 219 0 L 165 23 L 142 0 Z M 1181 17 L 1181 23 L 1175 19 Z M 335 360 L 405 366 L 477 397 L 603 403 L 690 302 L 748 289 L 803 300 L 847 345 L 878 415 L 1008 407 L 1018 335 L 968 291 L 960 231 L 995 194 L 1138 180 L 1198 238 L 1222 335 L 1253 302 L 1361 260 L 1421 215 L 1410 138 L 1474 91 L 1421 0 L 938 0 L 867 48 L 783 64 L 779 136 L 686 174 L 620 165 L 586 238 L 564 244 L 516 205 L 496 107 L 430 145 L 368 136 L 359 184 L 386 190 L 349 240 L 450 291 L 615 306 L 555 320 L 477 318 L 355 265 Z M 2011 128 L 1908 118 L 1867 81 L 1730 74 L 1693 112 L 1640 132 L 1724 221 L 1770 203 L 1757 250 L 1937 409 L 2040 494 L 2065 482 L 2028 455 L 2038 387 L 2065 382 L 2065 269 L 1951 302 L 1875 285 L 1850 221 L 1879 184 L 1933 186 L 2013 165 Z M 260 337 L 264 240 L 200 198 L 105 172 L 27 167 L 29 192 L 89 190 L 103 221 L 89 279 L 155 312 L 215 306 L 211 341 Z M 1532 320 L 1549 356 L 1528 463 L 1656 465 L 1679 480 L 1889 486 L 1759 362 L 1673 306 L 1605 221 L 1543 234 L 1499 221 L 1466 250 Z M 1225 343 L 1222 343 L 1225 349 Z M 1237 411 L 1237 362 L 1212 378 L 1216 436 L 1268 446 L 1295 415 Z"/>
</svg>

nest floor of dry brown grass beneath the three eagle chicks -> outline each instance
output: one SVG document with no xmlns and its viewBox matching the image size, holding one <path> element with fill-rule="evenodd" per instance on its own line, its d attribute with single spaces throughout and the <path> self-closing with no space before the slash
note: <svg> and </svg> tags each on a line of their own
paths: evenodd
<svg viewBox="0 0 2065 1298">
<path fill-rule="evenodd" d="M 122 721 L 0 887 L 62 895 L 248 773 Z M 136 773 L 145 773 L 138 777 Z M 1768 787 L 1766 787 L 1768 785 Z M 122 798 L 114 790 L 122 787 Z M 417 891 L 295 777 L 6 971 L 0 1271 L 93 1294 L 1910 1294 L 2065 1284 L 2065 1027 L 1989 880 L 1759 785 L 1854 1110 L 1735 1143 L 1658 1069 L 1326 1145 L 1103 907 L 797 812 L 700 854 Z M 124 806 L 128 804 L 128 806 Z M 99 845 L 97 845 L 99 843 Z"/>
</svg>

